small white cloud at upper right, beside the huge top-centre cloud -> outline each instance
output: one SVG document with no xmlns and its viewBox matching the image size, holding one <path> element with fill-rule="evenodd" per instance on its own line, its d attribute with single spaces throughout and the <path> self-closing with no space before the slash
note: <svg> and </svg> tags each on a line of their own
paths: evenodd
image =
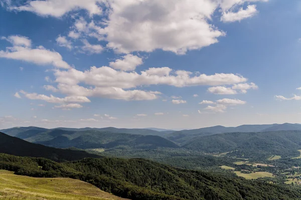
<svg viewBox="0 0 301 200">
<path fill-rule="evenodd" d="M 256 13 L 256 5 L 248 5 L 246 9 L 241 7 L 237 12 L 224 11 L 221 20 L 224 22 L 240 21 L 244 18 L 252 17 Z"/>
</svg>

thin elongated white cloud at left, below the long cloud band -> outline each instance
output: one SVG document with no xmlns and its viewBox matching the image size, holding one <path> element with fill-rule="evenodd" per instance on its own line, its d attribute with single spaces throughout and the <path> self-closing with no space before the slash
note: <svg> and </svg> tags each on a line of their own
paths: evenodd
<svg viewBox="0 0 301 200">
<path fill-rule="evenodd" d="M 59 98 L 53 95 L 47 96 L 44 94 L 37 94 L 37 93 L 28 93 L 23 90 L 20 91 L 25 95 L 25 97 L 33 100 L 45 100 L 50 103 L 70 103 L 70 102 L 91 102 L 85 96 L 66 96 L 64 98 Z"/>
</svg>

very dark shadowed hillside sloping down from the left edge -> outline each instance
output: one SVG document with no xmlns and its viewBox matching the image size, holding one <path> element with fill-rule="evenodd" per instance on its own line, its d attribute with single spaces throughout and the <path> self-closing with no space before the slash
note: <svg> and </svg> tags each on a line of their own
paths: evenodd
<svg viewBox="0 0 301 200">
<path fill-rule="evenodd" d="M 61 149 L 35 144 L 0 132 L 0 152 L 19 156 L 45 157 L 52 160 L 77 160 L 100 157 L 86 151 Z"/>
</svg>

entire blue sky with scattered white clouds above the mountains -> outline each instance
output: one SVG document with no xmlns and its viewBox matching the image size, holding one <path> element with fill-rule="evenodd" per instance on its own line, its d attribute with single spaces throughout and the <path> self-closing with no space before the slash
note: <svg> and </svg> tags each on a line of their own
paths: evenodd
<svg viewBox="0 0 301 200">
<path fill-rule="evenodd" d="M 0 2 L 0 128 L 301 123 L 298 0 Z"/>
</svg>

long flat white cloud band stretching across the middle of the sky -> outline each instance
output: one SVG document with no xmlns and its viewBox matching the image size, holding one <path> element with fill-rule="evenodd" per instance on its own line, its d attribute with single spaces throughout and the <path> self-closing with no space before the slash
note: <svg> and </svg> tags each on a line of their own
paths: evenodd
<svg viewBox="0 0 301 200">
<path fill-rule="evenodd" d="M 168 68 L 168 67 L 167 67 Z M 156 68 L 161 69 L 161 68 Z M 167 84 L 177 87 L 196 85 L 234 84 L 247 81 L 247 78 L 233 73 L 215 73 L 213 75 L 197 74 L 177 70 L 174 74 L 154 74 L 154 68 L 137 73 L 135 71 L 118 71 L 108 66 L 92 66 L 89 70 L 79 71 L 71 68 L 67 71 L 56 70 L 56 81 L 64 84 L 86 84 L 99 87 L 132 88 L 142 85 Z"/>
</svg>

